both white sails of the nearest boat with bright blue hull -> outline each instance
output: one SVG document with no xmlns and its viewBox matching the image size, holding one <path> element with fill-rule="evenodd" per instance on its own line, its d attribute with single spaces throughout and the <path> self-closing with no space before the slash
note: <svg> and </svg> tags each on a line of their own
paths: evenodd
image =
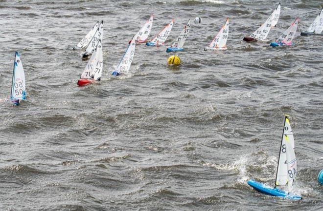
<svg viewBox="0 0 323 211">
<path fill-rule="evenodd" d="M 288 183 L 288 187 L 291 189 L 293 185 L 297 172 L 294 147 L 294 135 L 286 115 L 281 137 L 275 187 Z"/>
</svg>

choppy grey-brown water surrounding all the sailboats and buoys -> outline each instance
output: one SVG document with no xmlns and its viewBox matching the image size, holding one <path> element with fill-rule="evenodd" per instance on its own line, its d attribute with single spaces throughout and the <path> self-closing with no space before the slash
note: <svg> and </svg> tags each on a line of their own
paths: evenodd
<svg viewBox="0 0 323 211">
<path fill-rule="evenodd" d="M 1 211 L 245 211 L 323 209 L 322 37 L 269 47 L 298 16 L 307 29 L 323 6 L 281 2 L 265 43 L 242 41 L 275 1 L 0 0 L 0 96 L 9 96 L 14 52 L 21 54 L 27 100 L 0 107 Z M 172 18 L 167 44 L 187 19 L 179 53 L 140 45 L 129 77 L 111 77 L 127 41 L 155 14 L 150 38 Z M 203 52 L 230 18 L 228 51 Z M 86 61 L 71 48 L 104 20 L 104 73 L 77 87 Z M 275 180 L 283 115 L 291 115 L 299 166 L 291 202 L 246 181 Z"/>
</svg>

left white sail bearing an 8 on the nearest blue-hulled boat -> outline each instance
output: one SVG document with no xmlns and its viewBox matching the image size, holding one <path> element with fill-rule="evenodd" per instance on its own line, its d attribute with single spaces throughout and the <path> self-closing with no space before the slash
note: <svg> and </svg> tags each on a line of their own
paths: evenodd
<svg viewBox="0 0 323 211">
<path fill-rule="evenodd" d="M 288 116 L 285 116 L 283 134 L 281 137 L 280 152 L 278 158 L 275 186 L 286 185 L 289 180 L 287 154 L 292 157 L 294 153 L 294 135 L 289 123 Z M 292 161 L 292 160 L 290 160 Z"/>
</svg>

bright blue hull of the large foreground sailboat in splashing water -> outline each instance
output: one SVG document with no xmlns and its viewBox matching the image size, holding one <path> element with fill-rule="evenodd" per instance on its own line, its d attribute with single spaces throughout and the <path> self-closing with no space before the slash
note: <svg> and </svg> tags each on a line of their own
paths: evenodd
<svg viewBox="0 0 323 211">
<path fill-rule="evenodd" d="M 288 194 L 288 192 L 284 192 L 284 191 L 279 190 L 277 188 L 265 186 L 264 184 L 262 184 L 260 182 L 254 181 L 253 179 L 249 180 L 247 183 L 248 183 L 248 185 L 253 187 L 256 191 L 267 194 L 267 195 L 278 196 L 278 197 L 291 199 L 291 200 L 302 199 L 301 196 L 299 196 L 299 195 Z"/>
</svg>

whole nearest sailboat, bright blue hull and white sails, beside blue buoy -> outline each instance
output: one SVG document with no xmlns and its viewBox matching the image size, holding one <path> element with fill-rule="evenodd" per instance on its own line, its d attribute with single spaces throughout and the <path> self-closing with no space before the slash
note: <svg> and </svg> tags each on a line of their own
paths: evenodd
<svg viewBox="0 0 323 211">
<path fill-rule="evenodd" d="M 301 196 L 293 194 L 293 185 L 295 184 L 297 174 L 297 159 L 294 152 L 294 135 L 289 123 L 288 115 L 285 115 L 283 134 L 280 142 L 278 166 L 276 173 L 275 187 L 266 186 L 255 180 L 249 180 L 247 183 L 256 191 L 278 196 L 286 199 L 300 200 Z M 288 191 L 278 189 L 278 186 L 287 185 Z"/>
</svg>

